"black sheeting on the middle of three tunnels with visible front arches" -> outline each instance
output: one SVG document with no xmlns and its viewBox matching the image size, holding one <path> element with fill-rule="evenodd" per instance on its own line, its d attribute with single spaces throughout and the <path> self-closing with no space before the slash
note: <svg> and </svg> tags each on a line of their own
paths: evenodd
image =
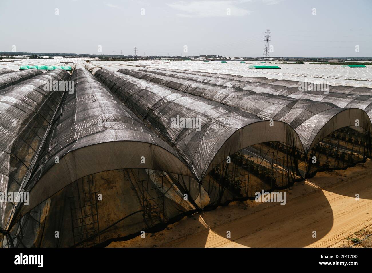
<svg viewBox="0 0 372 273">
<path fill-rule="evenodd" d="M 237 152 L 246 153 L 245 148 L 255 144 L 267 142 L 270 146 L 276 142 L 289 147 L 283 154 L 285 183 L 271 183 L 270 189 L 293 185 L 297 172 L 294 152 L 303 148 L 288 124 L 276 121 L 272 127 L 269 121 L 254 114 L 108 69 L 97 70 L 95 76 L 185 160 L 208 194 L 209 203 L 204 209 L 254 198 L 254 191 L 233 188 L 234 182 L 227 180 L 233 164 L 225 162 L 227 157 L 235 159 Z M 200 130 L 174 127 L 171 119 L 176 117 L 199 119 L 202 127 Z M 258 160 L 259 164 L 263 157 Z M 217 169 L 225 175 L 217 175 Z M 265 188 L 264 184 L 259 181 L 256 189 Z M 246 189 L 248 187 L 246 185 Z"/>
</svg>

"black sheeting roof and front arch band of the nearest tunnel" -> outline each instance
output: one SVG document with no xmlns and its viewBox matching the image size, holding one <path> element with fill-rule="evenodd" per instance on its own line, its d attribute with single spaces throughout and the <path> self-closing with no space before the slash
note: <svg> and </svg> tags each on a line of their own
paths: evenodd
<svg viewBox="0 0 372 273">
<path fill-rule="evenodd" d="M 44 190 L 42 195 L 37 194 L 33 204 L 40 204 L 77 179 L 105 170 L 146 168 L 192 176 L 174 149 L 148 130 L 89 71 L 78 68 L 71 80 L 75 81 L 77 91 L 64 96 L 62 108 L 48 134 L 48 146 L 43 146 L 28 186 L 32 192 L 46 187 L 48 192 Z M 117 142 L 115 146 L 113 142 Z M 149 150 L 149 145 L 154 147 Z M 89 146 L 93 147 L 90 154 L 83 154 L 87 150 L 81 148 Z M 77 159 L 75 154 L 78 153 L 84 157 Z M 122 153 L 130 155 L 131 160 L 122 160 Z M 136 153 L 147 159 L 144 164 Z M 56 156 L 60 159 L 58 164 L 55 164 Z M 80 164 L 76 165 L 75 160 Z M 53 179 L 54 176 L 58 180 Z M 55 183 L 47 186 L 51 179 Z"/>
</svg>

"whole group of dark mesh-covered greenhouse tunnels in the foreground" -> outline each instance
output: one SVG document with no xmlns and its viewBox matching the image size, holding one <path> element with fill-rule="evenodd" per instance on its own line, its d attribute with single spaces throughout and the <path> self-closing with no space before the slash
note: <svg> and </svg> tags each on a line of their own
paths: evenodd
<svg viewBox="0 0 372 273">
<path fill-rule="evenodd" d="M 0 192 L 29 193 L 2 247 L 107 246 L 371 158 L 371 88 L 73 66 L 0 69 Z"/>
</svg>

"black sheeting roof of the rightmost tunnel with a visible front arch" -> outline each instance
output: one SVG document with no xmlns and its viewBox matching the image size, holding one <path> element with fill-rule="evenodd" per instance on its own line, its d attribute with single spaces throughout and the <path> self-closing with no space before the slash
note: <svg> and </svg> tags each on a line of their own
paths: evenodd
<svg viewBox="0 0 372 273">
<path fill-rule="evenodd" d="M 305 153 L 308 153 L 327 134 L 341 127 L 355 125 L 356 120 L 360 121 L 361 127 L 371 132 L 371 121 L 366 117 L 365 111 L 362 111 L 364 109 L 355 109 L 359 104 L 350 103 L 349 105 L 353 107 L 345 111 L 330 102 L 319 102 L 307 98 L 295 99 L 270 93 L 256 93 L 251 90 L 241 90 L 231 85 L 225 87 L 191 79 L 157 75 L 151 73 L 153 71 L 150 73 L 146 71 L 147 69 L 141 69 L 140 71 L 118 70 L 118 72 L 127 75 L 236 107 L 248 113 L 256 114 L 262 119 L 284 121 L 298 133 Z M 370 103 L 368 102 L 368 105 Z"/>
</svg>

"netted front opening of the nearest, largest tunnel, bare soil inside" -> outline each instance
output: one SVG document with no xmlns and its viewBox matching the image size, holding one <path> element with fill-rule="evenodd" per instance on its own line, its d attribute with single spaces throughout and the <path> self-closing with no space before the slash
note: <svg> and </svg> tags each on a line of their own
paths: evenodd
<svg viewBox="0 0 372 273">
<path fill-rule="evenodd" d="M 208 204 L 208 196 L 203 195 Z M 84 176 L 23 215 L 10 231 L 16 247 L 92 247 L 153 233 L 199 210 L 200 183 L 153 169 Z M 58 237 L 55 237 L 58 231 Z M 6 243 L 3 242 L 3 246 Z"/>
</svg>

